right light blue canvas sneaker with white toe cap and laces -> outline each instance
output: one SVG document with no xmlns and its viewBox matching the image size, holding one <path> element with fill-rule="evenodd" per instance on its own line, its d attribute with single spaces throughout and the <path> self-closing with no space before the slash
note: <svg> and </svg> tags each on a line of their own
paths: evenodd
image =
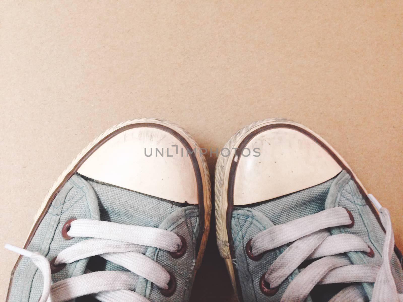
<svg viewBox="0 0 403 302">
<path fill-rule="evenodd" d="M 239 301 L 403 301 L 388 210 L 318 134 L 263 120 L 223 150 L 217 243 Z"/>
</svg>

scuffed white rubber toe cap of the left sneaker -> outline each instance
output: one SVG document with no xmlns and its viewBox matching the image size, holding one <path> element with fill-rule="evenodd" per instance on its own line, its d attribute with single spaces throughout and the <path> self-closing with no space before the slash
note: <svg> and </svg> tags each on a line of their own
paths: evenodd
<svg viewBox="0 0 403 302">
<path fill-rule="evenodd" d="M 155 197 L 197 204 L 196 175 L 186 142 L 168 127 L 129 128 L 100 145 L 77 172 Z"/>
</svg>

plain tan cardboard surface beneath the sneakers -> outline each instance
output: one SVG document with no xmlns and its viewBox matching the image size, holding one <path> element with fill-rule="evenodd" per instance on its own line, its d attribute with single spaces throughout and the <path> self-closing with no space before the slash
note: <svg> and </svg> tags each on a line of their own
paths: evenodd
<svg viewBox="0 0 403 302">
<path fill-rule="evenodd" d="M 283 117 L 341 153 L 403 248 L 402 13 L 400 1 L 2 1 L 0 245 L 23 246 L 54 180 L 113 124 L 164 118 L 215 149 Z M 192 301 L 235 301 L 212 230 Z M 4 300 L 17 255 L 1 255 Z"/>
</svg>

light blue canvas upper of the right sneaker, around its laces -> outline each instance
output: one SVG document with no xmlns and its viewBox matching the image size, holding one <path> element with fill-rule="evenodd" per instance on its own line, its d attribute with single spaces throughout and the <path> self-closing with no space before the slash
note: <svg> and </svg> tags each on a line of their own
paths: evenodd
<svg viewBox="0 0 403 302">
<path fill-rule="evenodd" d="M 359 194 L 357 186 L 351 180 L 351 177 L 343 171 L 336 177 L 317 186 L 261 203 L 234 208 L 231 221 L 236 255 L 234 263 L 238 269 L 244 302 L 280 301 L 289 283 L 299 273 L 299 269 L 296 269 L 289 275 L 281 284 L 277 294 L 265 296 L 259 289 L 259 280 L 262 274 L 268 270 L 270 265 L 289 245 L 268 251 L 261 260 L 253 261 L 249 259 L 245 252 L 248 240 L 273 225 L 287 223 L 293 219 L 312 215 L 332 207 L 349 209 L 354 216 L 355 223 L 352 228 L 344 226 L 331 228 L 331 234 L 348 233 L 357 235 L 371 246 L 375 252 L 373 258 L 358 251 L 348 252 L 347 256 L 351 264 L 374 264 L 379 266 L 382 264 L 381 255 L 385 234 L 371 209 Z M 397 289 L 399 293 L 402 293 L 403 272 L 401 263 L 395 254 L 392 257 L 391 266 Z M 370 300 L 373 283 L 361 283 L 361 286 L 363 293 Z M 317 285 L 306 301 L 328 301 L 340 289 L 340 286 Z"/>
</svg>

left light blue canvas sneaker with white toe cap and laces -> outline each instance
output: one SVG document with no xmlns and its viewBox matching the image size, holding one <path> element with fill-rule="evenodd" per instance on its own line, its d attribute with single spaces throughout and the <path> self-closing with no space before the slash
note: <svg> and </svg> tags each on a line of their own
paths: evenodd
<svg viewBox="0 0 403 302">
<path fill-rule="evenodd" d="M 187 301 L 210 228 L 199 147 L 169 122 L 118 124 L 56 181 L 10 281 L 9 302 Z"/>
</svg>

